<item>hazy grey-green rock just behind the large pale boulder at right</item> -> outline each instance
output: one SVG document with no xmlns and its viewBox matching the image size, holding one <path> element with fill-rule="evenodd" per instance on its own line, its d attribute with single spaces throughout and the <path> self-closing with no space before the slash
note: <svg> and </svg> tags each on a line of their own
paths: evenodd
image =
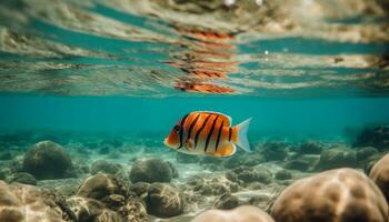
<svg viewBox="0 0 389 222">
<path fill-rule="evenodd" d="M 319 170 L 357 167 L 357 155 L 353 150 L 332 148 L 323 150 L 317 165 Z"/>
</svg>

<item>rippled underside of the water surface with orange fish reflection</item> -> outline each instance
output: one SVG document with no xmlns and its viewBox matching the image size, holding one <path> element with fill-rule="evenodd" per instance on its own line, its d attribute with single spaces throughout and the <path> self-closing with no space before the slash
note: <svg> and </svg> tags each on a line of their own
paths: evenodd
<svg viewBox="0 0 389 222">
<path fill-rule="evenodd" d="M 194 2 L 1 1 L 0 91 L 387 97 L 375 2 Z"/>
</svg>

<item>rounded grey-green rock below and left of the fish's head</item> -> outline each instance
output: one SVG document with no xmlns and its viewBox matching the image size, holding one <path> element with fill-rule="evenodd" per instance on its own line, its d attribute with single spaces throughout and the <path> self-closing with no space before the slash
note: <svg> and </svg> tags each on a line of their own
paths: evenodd
<svg viewBox="0 0 389 222">
<path fill-rule="evenodd" d="M 130 171 L 130 180 L 136 182 L 170 182 L 173 176 L 171 165 L 161 159 L 137 160 Z"/>
</svg>

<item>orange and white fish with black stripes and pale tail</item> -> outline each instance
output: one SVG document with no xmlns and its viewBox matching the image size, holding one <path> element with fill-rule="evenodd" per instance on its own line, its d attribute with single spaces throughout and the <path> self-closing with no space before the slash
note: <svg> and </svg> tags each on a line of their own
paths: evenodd
<svg viewBox="0 0 389 222">
<path fill-rule="evenodd" d="M 231 127 L 231 118 L 209 111 L 186 114 L 164 139 L 179 152 L 199 155 L 232 155 L 237 147 L 250 151 L 247 131 L 250 119 Z"/>
</svg>

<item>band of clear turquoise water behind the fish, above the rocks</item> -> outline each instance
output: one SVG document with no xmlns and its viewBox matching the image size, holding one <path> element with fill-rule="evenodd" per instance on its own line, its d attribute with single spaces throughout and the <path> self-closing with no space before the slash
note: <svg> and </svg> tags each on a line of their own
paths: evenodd
<svg viewBox="0 0 389 222">
<path fill-rule="evenodd" d="M 53 130 L 166 135 L 186 113 L 211 110 L 237 124 L 252 117 L 252 141 L 347 141 L 365 127 L 389 120 L 388 98 L 261 99 L 126 97 L 0 97 L 0 130 Z"/>
</svg>

